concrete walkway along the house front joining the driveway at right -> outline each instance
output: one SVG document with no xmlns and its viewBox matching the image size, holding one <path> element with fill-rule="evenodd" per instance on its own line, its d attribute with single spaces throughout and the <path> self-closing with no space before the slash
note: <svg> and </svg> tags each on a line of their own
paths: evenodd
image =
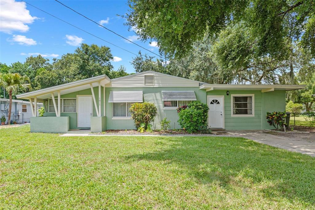
<svg viewBox="0 0 315 210">
<path fill-rule="evenodd" d="M 272 135 L 268 131 L 215 131 L 218 135 L 93 135 L 89 133 L 65 133 L 60 136 L 211 136 L 211 137 L 242 137 L 273 147 L 286 149 L 292 152 L 300 152 L 315 157 L 315 141 L 308 142 L 297 137 L 282 137 Z"/>
</svg>

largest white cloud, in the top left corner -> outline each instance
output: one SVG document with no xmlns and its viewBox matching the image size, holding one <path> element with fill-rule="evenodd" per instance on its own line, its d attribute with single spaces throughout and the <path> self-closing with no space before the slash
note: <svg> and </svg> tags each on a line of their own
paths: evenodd
<svg viewBox="0 0 315 210">
<path fill-rule="evenodd" d="M 0 31 L 12 33 L 13 31 L 27 32 L 31 24 L 38 19 L 30 15 L 26 9 L 26 3 L 15 2 L 14 0 L 0 1 Z"/>
</svg>

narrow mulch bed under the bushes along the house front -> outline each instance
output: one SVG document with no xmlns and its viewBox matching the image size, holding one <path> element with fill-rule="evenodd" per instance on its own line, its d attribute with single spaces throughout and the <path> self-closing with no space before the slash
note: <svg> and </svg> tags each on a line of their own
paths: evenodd
<svg viewBox="0 0 315 210">
<path fill-rule="evenodd" d="M 136 130 L 106 130 L 93 135 L 211 135 L 213 133 L 188 133 L 185 130 L 152 131 L 140 133 Z M 215 135 L 215 134 L 213 134 Z"/>
</svg>

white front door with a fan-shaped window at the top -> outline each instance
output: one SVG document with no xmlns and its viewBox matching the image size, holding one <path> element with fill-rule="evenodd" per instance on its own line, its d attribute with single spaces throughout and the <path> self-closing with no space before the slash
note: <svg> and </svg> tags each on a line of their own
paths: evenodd
<svg viewBox="0 0 315 210">
<path fill-rule="evenodd" d="M 209 126 L 212 128 L 223 128 L 223 96 L 208 97 Z"/>
</svg>

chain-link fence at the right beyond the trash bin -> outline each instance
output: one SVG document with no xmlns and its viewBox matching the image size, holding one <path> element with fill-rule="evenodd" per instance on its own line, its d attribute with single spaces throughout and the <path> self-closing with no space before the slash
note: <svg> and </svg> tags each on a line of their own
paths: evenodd
<svg viewBox="0 0 315 210">
<path fill-rule="evenodd" d="M 315 127 L 315 113 L 291 113 L 290 125 Z"/>
</svg>

